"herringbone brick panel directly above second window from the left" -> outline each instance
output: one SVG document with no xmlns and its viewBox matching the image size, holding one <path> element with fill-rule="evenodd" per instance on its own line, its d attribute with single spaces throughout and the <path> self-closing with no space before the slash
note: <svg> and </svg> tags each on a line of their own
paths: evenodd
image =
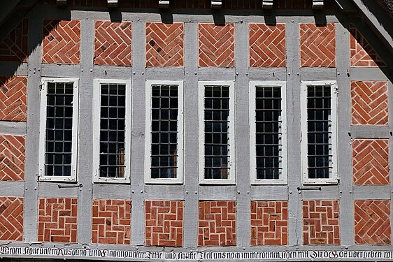
<svg viewBox="0 0 393 262">
<path fill-rule="evenodd" d="M 131 66 L 131 22 L 96 22 L 94 64 Z"/>
</svg>

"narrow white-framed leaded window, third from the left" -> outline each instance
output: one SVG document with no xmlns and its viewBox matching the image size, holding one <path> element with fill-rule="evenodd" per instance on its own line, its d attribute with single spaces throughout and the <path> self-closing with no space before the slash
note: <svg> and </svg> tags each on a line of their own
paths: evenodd
<svg viewBox="0 0 393 262">
<path fill-rule="evenodd" d="M 149 82 L 150 175 L 147 182 L 181 182 L 183 90 L 181 82 Z"/>
</svg>

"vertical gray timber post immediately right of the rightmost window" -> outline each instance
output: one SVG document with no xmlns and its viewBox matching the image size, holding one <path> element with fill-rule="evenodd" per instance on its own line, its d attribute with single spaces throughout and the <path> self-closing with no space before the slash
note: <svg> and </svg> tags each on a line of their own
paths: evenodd
<svg viewBox="0 0 393 262">
<path fill-rule="evenodd" d="M 354 214 L 352 194 L 352 147 L 350 136 L 350 76 L 344 72 L 350 68 L 350 41 L 349 32 L 345 28 L 348 24 L 336 24 L 336 62 L 337 71 L 337 160 L 338 160 L 338 177 L 340 178 L 340 230 L 341 244 L 353 245 L 354 243 Z M 334 198 L 333 198 L 334 199 Z"/>
</svg>

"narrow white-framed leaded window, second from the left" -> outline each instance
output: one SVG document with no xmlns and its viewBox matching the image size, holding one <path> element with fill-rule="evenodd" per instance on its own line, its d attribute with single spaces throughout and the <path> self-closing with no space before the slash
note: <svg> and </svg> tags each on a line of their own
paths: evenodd
<svg viewBox="0 0 393 262">
<path fill-rule="evenodd" d="M 124 80 L 94 82 L 94 169 L 96 182 L 129 182 L 130 85 Z"/>
</svg>

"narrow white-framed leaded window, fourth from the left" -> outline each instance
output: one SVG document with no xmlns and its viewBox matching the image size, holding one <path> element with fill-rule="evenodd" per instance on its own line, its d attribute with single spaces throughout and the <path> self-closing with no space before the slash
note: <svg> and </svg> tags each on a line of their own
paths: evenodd
<svg viewBox="0 0 393 262">
<path fill-rule="evenodd" d="M 232 90 L 231 90 L 232 89 Z M 203 85 L 203 181 L 234 181 L 231 167 L 231 145 L 233 146 L 234 122 L 231 115 L 233 85 Z"/>
</svg>

